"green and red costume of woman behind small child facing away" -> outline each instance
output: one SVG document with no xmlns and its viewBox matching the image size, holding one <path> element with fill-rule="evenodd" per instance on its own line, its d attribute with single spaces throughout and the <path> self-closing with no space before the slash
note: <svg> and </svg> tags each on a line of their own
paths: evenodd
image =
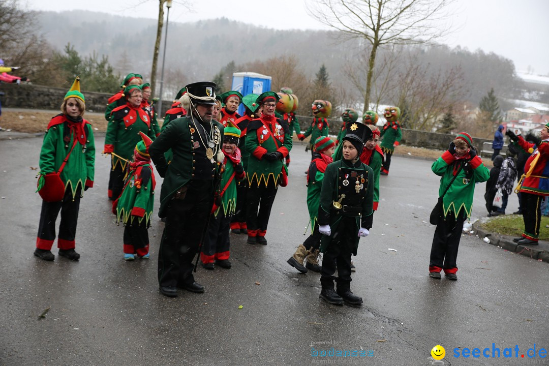
<svg viewBox="0 0 549 366">
<path fill-rule="evenodd" d="M 130 85 L 124 89 L 126 98 L 133 90 L 141 91 L 141 87 Z M 107 125 L 103 153 L 111 154 L 111 171 L 109 177 L 109 199 L 116 200 L 124 188 L 126 165 L 132 158 L 135 145 L 141 140 L 139 132 L 151 139 L 156 138 L 150 116 L 141 108 L 141 103 L 132 105 L 127 102 L 115 108 Z"/>
</svg>

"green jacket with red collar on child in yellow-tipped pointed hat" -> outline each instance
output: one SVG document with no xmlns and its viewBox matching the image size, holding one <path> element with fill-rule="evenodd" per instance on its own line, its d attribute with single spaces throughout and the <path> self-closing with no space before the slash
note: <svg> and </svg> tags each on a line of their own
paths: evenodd
<svg viewBox="0 0 549 366">
<path fill-rule="evenodd" d="M 88 121 L 82 120 L 83 137 L 76 143 L 69 156 L 63 171 L 61 181 L 65 183 L 65 189 L 71 187 L 72 197 L 81 185 L 83 188 L 93 187 L 94 167 L 96 161 L 96 147 L 93 139 L 92 126 Z M 65 143 L 64 139 L 67 139 Z M 40 150 L 40 173 L 45 175 L 59 170 L 63 160 L 74 144 L 74 133 L 68 127 L 68 121 L 63 114 L 59 114 L 49 122 L 42 149 Z"/>
</svg>

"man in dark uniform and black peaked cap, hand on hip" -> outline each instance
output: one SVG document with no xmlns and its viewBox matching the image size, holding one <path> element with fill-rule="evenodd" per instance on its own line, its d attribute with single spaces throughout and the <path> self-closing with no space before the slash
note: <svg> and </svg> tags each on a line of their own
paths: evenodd
<svg viewBox="0 0 549 366">
<path fill-rule="evenodd" d="M 204 292 L 194 281 L 193 258 L 203 239 L 222 165 L 223 126 L 212 120 L 215 83 L 186 86 L 181 104 L 187 115 L 170 125 L 150 145 L 156 170 L 164 177 L 160 192 L 160 217 L 166 217 L 158 256 L 160 292 L 177 296 L 177 288 Z M 171 149 L 168 165 L 164 153 Z"/>
</svg>

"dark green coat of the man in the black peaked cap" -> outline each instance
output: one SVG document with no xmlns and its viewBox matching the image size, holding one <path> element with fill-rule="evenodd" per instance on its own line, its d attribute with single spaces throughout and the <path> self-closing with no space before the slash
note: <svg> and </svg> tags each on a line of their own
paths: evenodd
<svg viewBox="0 0 549 366">
<path fill-rule="evenodd" d="M 198 125 L 199 122 L 197 121 L 196 123 Z M 219 130 L 221 141 L 223 141 L 223 125 L 216 121 L 212 121 L 212 124 L 214 129 L 217 128 Z M 209 123 L 205 123 L 202 126 L 206 129 L 206 132 L 211 132 Z M 159 217 L 166 216 L 165 209 L 167 203 L 173 198 L 178 189 L 191 181 L 194 165 L 193 144 L 191 142 L 192 133 L 198 133 L 195 131 L 192 120 L 187 116 L 181 117 L 171 121 L 150 145 L 150 157 L 160 177 L 164 178 L 160 190 Z M 198 138 L 195 139 L 195 142 L 198 142 Z M 221 144 L 219 148 L 221 148 Z M 168 164 L 164 155 L 169 149 L 171 149 L 173 155 L 173 160 L 170 164 Z M 214 151 L 214 159 L 217 151 Z"/>
</svg>

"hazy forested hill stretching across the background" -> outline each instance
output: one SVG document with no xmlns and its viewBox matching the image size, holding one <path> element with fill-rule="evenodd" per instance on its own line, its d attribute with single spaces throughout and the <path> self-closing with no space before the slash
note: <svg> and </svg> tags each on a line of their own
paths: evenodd
<svg viewBox="0 0 549 366">
<path fill-rule="evenodd" d="M 81 55 L 108 55 L 110 64 L 120 74 L 136 71 L 147 78 L 150 73 L 156 35 L 154 19 L 72 10 L 39 13 L 38 23 L 47 41 L 59 51 L 70 42 Z M 211 80 L 225 69 L 228 79 L 225 66 L 231 61 L 236 69 L 230 71 L 259 72 L 251 66 L 254 61 L 286 55 L 295 58 L 296 68 L 305 77 L 315 78 L 324 64 L 330 82 L 352 90 L 355 86 L 349 82 L 349 70 L 363 72 L 362 58 L 367 52 L 368 44 L 357 40 L 342 42 L 333 31 L 273 30 L 225 18 L 189 23 L 170 20 L 166 76 L 177 79 L 179 86 Z M 429 72 L 460 68 L 463 97 L 475 105 L 491 87 L 499 97 L 513 97 L 521 85 L 511 60 L 481 50 L 472 52 L 443 45 L 397 47 L 380 50 L 377 66 L 394 58 L 401 59 L 391 66 L 394 75 L 402 75 L 402 70 L 410 68 L 407 64 L 411 59 L 428 65 Z"/>
</svg>

